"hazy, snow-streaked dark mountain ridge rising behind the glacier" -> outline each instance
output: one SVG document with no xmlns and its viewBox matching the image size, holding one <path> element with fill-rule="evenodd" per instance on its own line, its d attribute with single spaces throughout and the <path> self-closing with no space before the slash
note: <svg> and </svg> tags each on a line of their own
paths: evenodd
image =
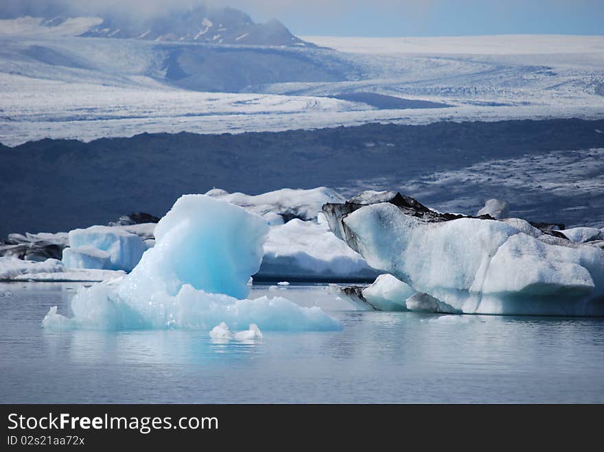
<svg viewBox="0 0 604 452">
<path fill-rule="evenodd" d="M 40 25 L 57 27 L 74 16 L 96 16 L 102 21 L 79 36 L 178 41 L 229 45 L 307 46 L 277 19 L 255 23 L 234 8 L 176 2 L 159 8 L 154 3 L 114 2 L 82 5 L 65 0 L 8 0 L 0 5 L 0 19 L 40 18 Z M 132 5 L 138 5 L 133 8 Z M 147 8 L 150 5 L 150 8 Z M 161 3 L 159 3 L 161 5 Z"/>
</svg>

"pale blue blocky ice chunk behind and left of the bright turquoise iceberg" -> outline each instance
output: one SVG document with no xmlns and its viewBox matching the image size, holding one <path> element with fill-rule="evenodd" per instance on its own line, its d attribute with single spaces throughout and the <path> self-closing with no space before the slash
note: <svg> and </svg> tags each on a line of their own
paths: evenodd
<svg viewBox="0 0 604 452">
<path fill-rule="evenodd" d="M 139 263 L 143 252 L 147 250 L 141 237 L 116 226 L 91 226 L 86 229 L 71 230 L 69 231 L 69 245 L 71 248 L 96 248 L 108 252 L 111 261 L 110 270 L 125 270 L 126 272 L 132 270 Z M 67 262 L 73 265 L 91 262 L 90 259 L 72 259 L 70 253 L 71 251 L 67 251 Z M 66 251 L 63 250 L 64 259 L 65 255 Z M 67 262 L 64 261 L 66 265 L 68 265 Z"/>
</svg>

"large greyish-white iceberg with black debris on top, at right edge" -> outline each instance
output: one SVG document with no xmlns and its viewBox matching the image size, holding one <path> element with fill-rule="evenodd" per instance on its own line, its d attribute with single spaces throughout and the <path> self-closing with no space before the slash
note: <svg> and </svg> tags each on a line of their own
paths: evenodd
<svg viewBox="0 0 604 452">
<path fill-rule="evenodd" d="M 399 205 L 359 199 L 324 206 L 330 226 L 371 267 L 453 311 L 604 315 L 604 250 L 596 244 L 522 219 L 441 214 L 400 195 Z"/>
</svg>

